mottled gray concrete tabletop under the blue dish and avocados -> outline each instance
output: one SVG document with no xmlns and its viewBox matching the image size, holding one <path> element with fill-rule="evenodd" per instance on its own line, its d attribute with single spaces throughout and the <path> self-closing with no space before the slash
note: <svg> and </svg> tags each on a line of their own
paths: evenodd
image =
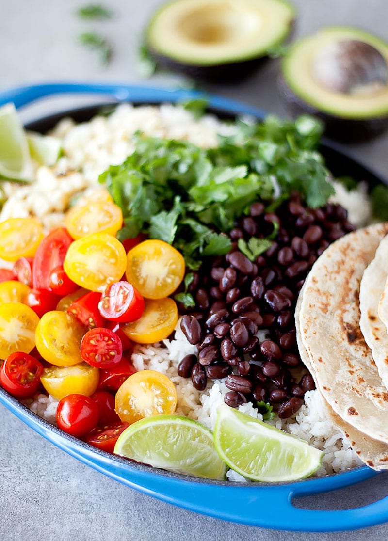
<svg viewBox="0 0 388 541">
<path fill-rule="evenodd" d="M 86 3 L 86 2 L 85 2 Z M 108 4 L 108 2 L 106 2 Z M 108 22 L 80 21 L 74 12 L 80 0 L 0 0 L 0 90 L 47 81 L 98 81 L 173 86 L 179 76 L 159 75 L 144 81 L 137 69 L 141 31 L 159 0 L 112 0 Z M 385 0 L 294 0 L 297 35 L 327 24 L 356 25 L 388 40 Z M 99 30 L 114 45 L 114 56 L 103 68 L 93 51 L 77 44 L 81 31 Z M 286 114 L 277 87 L 277 62 L 267 64 L 247 81 L 209 85 L 208 90 Z M 90 98 L 77 102 L 89 102 Z M 24 111 L 25 119 L 73 104 L 61 97 Z M 388 135 L 348 146 L 368 166 L 388 177 Z M 312 509 L 344 509 L 386 496 L 387 477 L 308 497 Z M 264 502 L 276 505 L 276 502 Z M 258 510 L 260 512 L 260 510 Z M 344 533 L 274 532 L 178 509 L 144 496 L 81 464 L 49 444 L 0 406 L 0 539 L 162 541 L 186 539 L 387 539 L 388 526 Z"/>
</svg>

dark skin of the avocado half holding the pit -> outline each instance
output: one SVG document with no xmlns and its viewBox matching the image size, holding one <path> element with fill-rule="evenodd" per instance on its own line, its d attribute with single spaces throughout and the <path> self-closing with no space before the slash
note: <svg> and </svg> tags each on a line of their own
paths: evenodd
<svg viewBox="0 0 388 541">
<path fill-rule="evenodd" d="M 325 134 L 332 139 L 343 142 L 367 141 L 388 129 L 388 116 L 353 119 L 323 113 L 294 94 L 283 77 L 279 76 L 278 84 L 290 113 L 295 117 L 301 114 L 317 116 L 325 124 Z"/>
</svg>

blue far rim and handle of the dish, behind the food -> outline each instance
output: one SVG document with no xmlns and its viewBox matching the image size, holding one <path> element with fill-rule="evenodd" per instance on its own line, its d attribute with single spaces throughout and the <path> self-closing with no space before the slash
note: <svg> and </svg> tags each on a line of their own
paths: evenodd
<svg viewBox="0 0 388 541">
<path fill-rule="evenodd" d="M 253 105 L 244 104 L 229 98 L 205 94 L 199 90 L 154 88 L 126 84 L 84 84 L 84 83 L 47 83 L 26 87 L 16 87 L 0 93 L 0 106 L 13 102 L 16 108 L 24 107 L 41 98 L 60 94 L 97 94 L 114 100 L 130 102 L 181 102 L 194 98 L 206 98 L 209 105 L 219 109 L 228 109 L 233 113 L 253 115 L 263 118 L 265 112 Z"/>
</svg>

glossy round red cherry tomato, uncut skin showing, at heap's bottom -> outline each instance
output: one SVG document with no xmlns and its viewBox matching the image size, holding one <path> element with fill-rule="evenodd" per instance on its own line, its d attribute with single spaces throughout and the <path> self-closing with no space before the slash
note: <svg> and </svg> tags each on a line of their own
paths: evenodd
<svg viewBox="0 0 388 541">
<path fill-rule="evenodd" d="M 97 404 L 84 394 L 67 394 L 58 402 L 56 420 L 64 432 L 81 438 L 98 423 Z"/>
</svg>

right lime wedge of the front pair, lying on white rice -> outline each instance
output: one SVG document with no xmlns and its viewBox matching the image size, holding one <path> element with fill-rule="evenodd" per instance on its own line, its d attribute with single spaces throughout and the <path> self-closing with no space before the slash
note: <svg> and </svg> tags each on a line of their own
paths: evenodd
<svg viewBox="0 0 388 541">
<path fill-rule="evenodd" d="M 265 483 L 308 477 L 323 456 L 305 441 L 227 405 L 218 408 L 214 443 L 229 467 Z"/>
</svg>

